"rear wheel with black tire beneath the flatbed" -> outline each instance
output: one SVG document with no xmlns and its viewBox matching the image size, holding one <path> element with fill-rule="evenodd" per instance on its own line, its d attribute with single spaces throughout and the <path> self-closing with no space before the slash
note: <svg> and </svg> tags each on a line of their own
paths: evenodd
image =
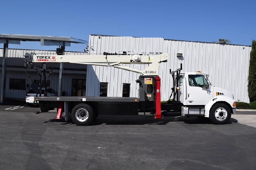
<svg viewBox="0 0 256 170">
<path fill-rule="evenodd" d="M 93 121 L 93 108 L 88 104 L 78 104 L 71 112 L 71 118 L 76 125 L 89 125 Z"/>
</svg>

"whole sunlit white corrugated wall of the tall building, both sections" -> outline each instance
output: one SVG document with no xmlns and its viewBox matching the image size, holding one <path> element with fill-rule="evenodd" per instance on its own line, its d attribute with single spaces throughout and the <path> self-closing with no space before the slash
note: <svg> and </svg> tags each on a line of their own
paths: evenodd
<svg viewBox="0 0 256 170">
<path fill-rule="evenodd" d="M 168 62 L 161 63 L 159 68 L 162 101 L 168 100 L 171 93 L 169 69 L 176 70 L 182 63 L 183 72 L 202 71 L 209 74 L 212 85 L 231 91 L 235 100 L 249 102 L 247 77 L 251 46 L 106 35 L 90 35 L 89 46 L 92 46 L 89 54 L 122 51 L 129 54 L 169 53 Z M 182 53 L 182 57 L 177 57 L 177 53 Z M 130 67 L 143 70 L 145 66 Z M 87 67 L 87 95 L 98 96 L 99 82 L 109 82 L 108 96 L 121 97 L 123 83 L 130 83 L 130 97 L 137 97 L 135 80 L 138 76 L 137 73 L 113 67 Z"/>
</svg>

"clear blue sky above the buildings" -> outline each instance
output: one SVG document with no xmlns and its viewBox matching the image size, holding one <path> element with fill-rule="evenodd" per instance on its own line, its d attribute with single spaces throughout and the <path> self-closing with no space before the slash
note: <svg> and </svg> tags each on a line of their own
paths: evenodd
<svg viewBox="0 0 256 170">
<path fill-rule="evenodd" d="M 256 39 L 255 0 L 9 0 L 1 1 L 0 34 L 68 36 L 89 34 L 163 37 L 252 45 Z M 40 42 L 9 48 L 56 50 Z M 71 44 L 66 51 L 83 51 Z M 3 48 L 3 44 L 0 45 Z"/>
</svg>

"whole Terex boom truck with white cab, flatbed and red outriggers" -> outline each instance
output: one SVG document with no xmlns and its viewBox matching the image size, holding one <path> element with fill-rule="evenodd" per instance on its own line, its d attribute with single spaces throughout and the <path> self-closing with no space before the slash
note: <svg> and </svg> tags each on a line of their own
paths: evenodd
<svg viewBox="0 0 256 170">
<path fill-rule="evenodd" d="M 159 55 L 25 55 L 26 67 L 32 63 L 79 63 L 87 65 L 113 66 L 140 73 L 138 97 L 89 97 L 89 96 L 44 96 L 35 97 L 41 112 L 58 108 L 55 119 L 71 115 L 77 125 L 89 125 L 98 115 L 138 115 L 162 119 L 163 116 L 208 117 L 215 124 L 225 124 L 231 114 L 236 114 L 236 101 L 227 90 L 212 86 L 207 74 L 201 72 L 181 73 L 179 69 L 170 74 L 173 78 L 172 94 L 167 103 L 161 104 L 161 79 L 159 65 L 167 62 L 168 54 Z M 144 70 L 133 69 L 120 64 L 148 64 Z M 45 76 L 46 78 L 46 76 Z M 40 93 L 41 94 L 41 93 Z M 170 100 L 173 95 L 173 100 Z M 146 115 L 149 112 L 151 115 Z"/>
</svg>

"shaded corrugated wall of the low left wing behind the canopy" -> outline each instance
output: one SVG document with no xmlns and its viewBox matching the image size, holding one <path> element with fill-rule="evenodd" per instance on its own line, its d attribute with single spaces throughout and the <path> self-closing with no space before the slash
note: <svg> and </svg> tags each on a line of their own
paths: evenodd
<svg viewBox="0 0 256 170">
<path fill-rule="evenodd" d="M 45 55 L 56 55 L 56 51 L 47 50 L 21 50 L 21 49 L 8 49 L 8 57 L 5 62 L 7 63 L 7 74 L 6 74 L 6 85 L 5 85 L 5 97 L 9 98 L 25 98 L 26 90 L 12 90 L 9 89 L 10 78 L 26 79 L 26 84 L 30 84 L 30 79 L 27 78 L 25 74 L 24 66 L 24 55 L 25 53 L 35 53 L 35 54 L 45 54 Z M 80 55 L 86 54 L 81 52 L 69 52 L 66 51 L 65 54 L 70 55 Z M 2 64 L 3 49 L 0 49 L 0 64 Z M 49 63 L 47 67 L 53 67 L 53 73 L 49 74 L 47 80 L 50 80 L 50 87 L 54 90 L 58 89 L 59 86 L 59 63 Z M 76 79 L 86 79 L 86 69 L 87 65 L 82 64 L 69 64 L 64 63 L 63 70 L 63 92 L 65 96 L 71 96 L 71 85 L 72 78 Z M 40 76 L 34 69 L 28 69 L 28 72 L 33 80 L 39 80 Z M 1 73 L 1 70 L 0 70 Z M 1 79 L 1 76 L 0 76 Z"/>
</svg>

